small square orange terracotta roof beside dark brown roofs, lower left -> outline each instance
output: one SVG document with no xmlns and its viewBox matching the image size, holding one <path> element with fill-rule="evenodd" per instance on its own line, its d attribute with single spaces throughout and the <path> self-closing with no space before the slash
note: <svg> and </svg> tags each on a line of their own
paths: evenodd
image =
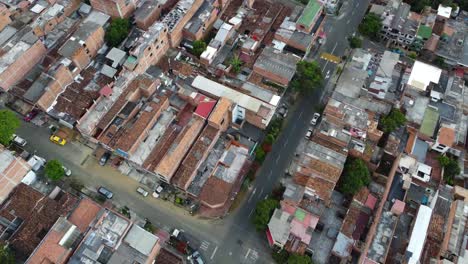
<svg viewBox="0 0 468 264">
<path fill-rule="evenodd" d="M 78 207 L 68 217 L 68 221 L 76 225 L 84 233 L 94 221 L 102 207 L 89 198 L 84 198 Z"/>
</svg>

